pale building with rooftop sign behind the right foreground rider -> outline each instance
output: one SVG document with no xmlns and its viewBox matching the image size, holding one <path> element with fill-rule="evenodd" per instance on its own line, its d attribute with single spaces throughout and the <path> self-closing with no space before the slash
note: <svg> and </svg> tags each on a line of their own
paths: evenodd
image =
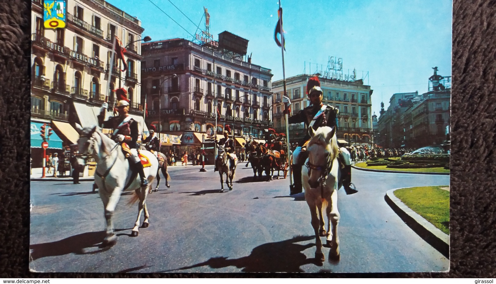
<svg viewBox="0 0 496 284">
<path fill-rule="evenodd" d="M 309 106 L 307 83 L 312 75 L 302 74 L 286 79 L 286 91 L 291 99 L 291 111 L 296 113 Z M 319 77 L 323 92 L 322 102 L 339 109 L 336 136 L 350 144 L 372 146 L 372 90 L 363 80 L 342 80 Z M 272 83 L 274 105 L 272 115 L 278 133 L 286 133 L 286 117 L 282 102 L 283 80 Z M 289 125 L 290 142 L 300 142 L 305 136 L 305 125 Z"/>
</svg>

